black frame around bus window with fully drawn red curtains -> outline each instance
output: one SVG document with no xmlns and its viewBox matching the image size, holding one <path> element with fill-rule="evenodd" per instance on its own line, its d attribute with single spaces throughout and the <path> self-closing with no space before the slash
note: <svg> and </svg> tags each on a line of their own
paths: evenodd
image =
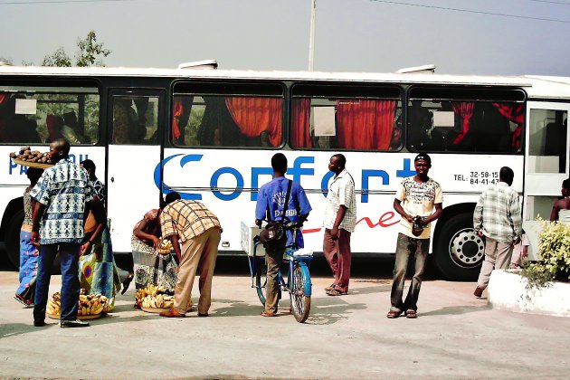
<svg viewBox="0 0 570 380">
<path fill-rule="evenodd" d="M 293 82 L 290 86 L 290 96 L 289 96 L 289 109 L 288 109 L 288 114 L 289 116 L 292 113 L 292 104 L 293 101 L 295 99 L 331 99 L 330 95 L 305 95 L 305 94 L 301 94 L 301 95 L 297 95 L 295 94 L 295 88 L 299 88 L 299 87 L 308 87 L 308 88 L 322 88 L 322 89 L 335 89 L 335 90 L 343 90 L 343 89 L 366 89 L 366 90 L 375 90 L 375 89 L 389 89 L 391 88 L 392 90 L 397 90 L 399 93 L 399 98 L 394 98 L 394 97 L 385 97 L 385 98 L 380 98 L 378 96 L 361 96 L 361 97 L 355 97 L 355 96 L 337 96 L 334 95 L 334 99 L 335 100 L 342 100 L 342 99 L 346 99 L 346 100 L 396 100 L 396 102 L 400 102 L 401 104 L 401 109 L 402 109 L 402 115 L 403 115 L 403 119 L 404 119 L 404 95 L 405 95 L 405 88 L 404 86 L 402 86 L 400 83 L 366 83 L 366 82 L 319 82 L 319 81 L 296 81 Z M 322 92 L 321 92 L 322 93 Z M 396 103 L 397 104 L 397 103 Z M 402 120 L 403 120 L 402 119 Z M 404 133 L 404 124 L 402 123 L 402 121 L 400 122 L 402 131 Z M 292 127 L 293 127 L 293 120 L 290 118 L 289 120 L 289 126 L 288 126 L 288 136 L 290 137 L 292 135 Z M 400 142 L 400 147 L 398 147 L 397 149 L 394 150 L 378 150 L 378 149 L 348 149 L 348 148 L 341 148 L 341 147 L 331 147 L 331 148 L 322 148 L 322 147 L 294 147 L 292 144 L 292 140 L 289 138 L 288 139 L 288 146 L 290 147 L 291 150 L 308 150 L 311 152 L 332 152 L 332 151 L 342 151 L 342 152 L 370 152 L 370 153 L 399 153 L 402 152 L 403 149 L 405 149 L 405 141 L 404 141 L 404 136 L 405 133 L 403 135 L 402 141 Z"/>
</svg>

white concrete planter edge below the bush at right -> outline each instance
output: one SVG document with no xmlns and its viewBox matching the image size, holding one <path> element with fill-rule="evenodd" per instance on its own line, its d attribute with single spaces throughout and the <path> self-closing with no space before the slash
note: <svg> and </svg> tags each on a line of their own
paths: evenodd
<svg viewBox="0 0 570 380">
<path fill-rule="evenodd" d="M 527 279 L 517 272 L 492 271 L 489 304 L 496 309 L 570 318 L 570 283 L 555 282 L 548 288 L 529 293 L 526 285 Z"/>
</svg>

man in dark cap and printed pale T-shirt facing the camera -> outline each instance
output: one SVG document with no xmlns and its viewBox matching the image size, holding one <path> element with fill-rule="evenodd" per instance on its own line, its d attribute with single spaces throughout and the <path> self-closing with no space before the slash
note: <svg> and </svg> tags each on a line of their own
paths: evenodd
<svg viewBox="0 0 570 380">
<path fill-rule="evenodd" d="M 404 310 L 407 318 L 417 318 L 417 302 L 430 249 L 431 223 L 442 214 L 442 186 L 428 176 L 432 158 L 420 153 L 413 159 L 413 165 L 416 175 L 404 178 L 394 199 L 394 210 L 402 218 L 396 243 L 394 280 L 390 295 L 392 307 L 386 316 L 388 318 L 398 318 Z M 410 259 L 414 261 L 412 284 L 402 301 Z"/>
</svg>

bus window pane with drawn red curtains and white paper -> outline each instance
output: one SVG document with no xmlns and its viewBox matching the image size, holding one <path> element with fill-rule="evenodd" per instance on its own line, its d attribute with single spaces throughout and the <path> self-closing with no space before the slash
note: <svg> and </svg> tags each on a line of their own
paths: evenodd
<svg viewBox="0 0 570 380">
<path fill-rule="evenodd" d="M 399 150 L 403 143 L 399 96 L 395 88 L 294 86 L 291 146 Z"/>
</svg>

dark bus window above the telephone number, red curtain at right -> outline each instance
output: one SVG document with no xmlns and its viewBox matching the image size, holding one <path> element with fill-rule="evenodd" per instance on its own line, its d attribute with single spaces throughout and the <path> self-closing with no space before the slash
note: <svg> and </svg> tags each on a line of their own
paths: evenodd
<svg viewBox="0 0 570 380">
<path fill-rule="evenodd" d="M 525 119 L 518 90 L 410 91 L 407 145 L 413 151 L 516 153 Z"/>
</svg>

